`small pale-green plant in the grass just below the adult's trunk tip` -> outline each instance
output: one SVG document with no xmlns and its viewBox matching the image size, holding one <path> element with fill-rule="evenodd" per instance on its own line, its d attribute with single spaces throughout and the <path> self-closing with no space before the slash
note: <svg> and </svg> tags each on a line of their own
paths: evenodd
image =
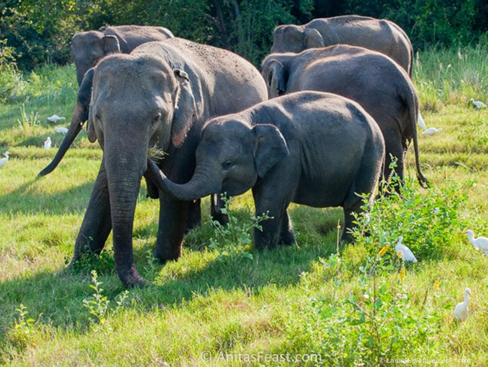
<svg viewBox="0 0 488 367">
<path fill-rule="evenodd" d="M 110 301 L 108 300 L 107 296 L 104 296 L 102 293 L 103 288 L 101 285 L 103 282 L 98 281 L 98 274 L 95 270 L 92 270 L 92 283 L 93 284 L 90 284 L 90 288 L 94 290 L 94 293 L 90 299 L 83 299 L 83 306 L 86 307 L 86 309 L 90 312 L 90 315 L 92 315 L 90 322 L 96 331 L 112 331 L 112 327 L 110 327 L 108 323 L 108 317 L 124 306 L 129 291 L 124 290 L 122 293 L 120 293 L 116 298 L 116 308 L 110 310 Z"/>
</svg>

